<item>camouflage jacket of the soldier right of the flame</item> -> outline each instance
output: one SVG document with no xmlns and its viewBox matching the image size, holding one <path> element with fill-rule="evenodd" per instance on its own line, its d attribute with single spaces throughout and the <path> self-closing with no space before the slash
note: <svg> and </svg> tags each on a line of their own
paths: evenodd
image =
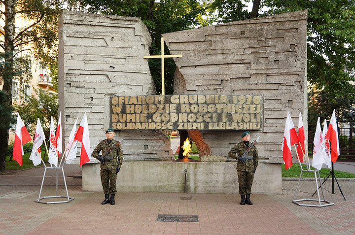
<svg viewBox="0 0 355 235">
<path fill-rule="evenodd" d="M 250 143 L 251 144 L 251 143 Z M 243 141 L 237 143 L 234 145 L 234 147 L 229 151 L 228 156 L 231 158 L 238 159 L 238 157 L 242 157 L 244 152 L 247 150 L 248 146 L 244 144 Z M 254 168 L 258 166 L 259 163 L 259 155 L 257 153 L 256 146 L 253 146 L 247 156 L 253 156 L 253 159 L 249 159 L 249 161 L 246 161 L 246 165 L 238 161 L 237 164 L 237 170 L 242 170 L 242 171 L 253 171 Z"/>
</svg>

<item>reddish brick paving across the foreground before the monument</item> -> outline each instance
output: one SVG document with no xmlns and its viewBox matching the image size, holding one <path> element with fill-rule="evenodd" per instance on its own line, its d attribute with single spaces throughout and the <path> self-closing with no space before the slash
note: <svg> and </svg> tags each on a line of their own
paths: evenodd
<svg viewBox="0 0 355 235">
<path fill-rule="evenodd" d="M 78 172 L 66 174 L 80 174 L 78 166 L 72 169 Z M 355 234 L 355 181 L 339 182 L 346 201 L 339 191 L 331 194 L 331 181 L 326 182 L 325 198 L 334 205 L 321 208 L 292 203 L 297 181 L 283 181 L 282 194 L 251 195 L 253 205 L 240 205 L 238 194 L 131 192 L 118 193 L 116 205 L 101 205 L 103 193 L 82 192 L 81 179 L 67 176 L 69 196 L 75 199 L 42 204 L 35 200 L 43 170 L 0 175 L 0 234 Z M 41 196 L 55 195 L 55 176 L 48 175 L 44 184 Z M 311 198 L 315 190 L 315 182 L 302 181 L 296 199 Z M 15 196 L 6 197 L 9 193 Z M 65 194 L 60 180 L 59 194 Z M 197 214 L 199 222 L 158 222 L 159 214 Z"/>
</svg>

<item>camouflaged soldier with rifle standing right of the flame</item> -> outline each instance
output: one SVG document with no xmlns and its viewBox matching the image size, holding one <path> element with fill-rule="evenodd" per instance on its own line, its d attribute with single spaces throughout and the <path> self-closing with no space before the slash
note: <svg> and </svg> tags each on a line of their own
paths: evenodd
<svg viewBox="0 0 355 235">
<path fill-rule="evenodd" d="M 250 201 L 251 185 L 254 179 L 254 173 L 256 167 L 258 166 L 259 156 L 257 149 L 253 146 L 247 158 L 242 158 L 244 152 L 249 146 L 250 132 L 244 132 L 242 134 L 243 141 L 237 143 L 228 153 L 229 157 L 238 159 L 237 172 L 238 172 L 238 182 L 239 182 L 239 194 L 241 195 L 241 205 L 245 203 L 252 205 Z"/>
</svg>

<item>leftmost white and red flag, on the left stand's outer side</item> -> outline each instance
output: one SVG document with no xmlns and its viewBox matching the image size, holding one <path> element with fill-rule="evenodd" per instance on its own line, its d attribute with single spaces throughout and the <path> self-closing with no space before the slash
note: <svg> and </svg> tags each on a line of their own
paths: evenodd
<svg viewBox="0 0 355 235">
<path fill-rule="evenodd" d="M 20 118 L 20 114 L 17 113 L 15 141 L 12 156 L 13 159 L 17 161 L 20 166 L 22 166 L 22 156 L 24 155 L 22 145 L 31 140 L 31 135 L 28 133 L 22 119 Z"/>
</svg>

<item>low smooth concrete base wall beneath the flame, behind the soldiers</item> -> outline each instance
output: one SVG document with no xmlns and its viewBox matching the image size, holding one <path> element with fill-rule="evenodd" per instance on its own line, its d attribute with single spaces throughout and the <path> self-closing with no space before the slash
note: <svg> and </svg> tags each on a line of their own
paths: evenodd
<svg viewBox="0 0 355 235">
<path fill-rule="evenodd" d="M 238 194 L 236 162 L 124 161 L 117 175 L 118 192 L 184 192 Z M 265 177 L 267 175 L 267 177 Z M 263 163 L 254 176 L 252 193 L 281 193 L 281 164 Z M 82 190 L 102 192 L 100 164 L 82 166 Z"/>
</svg>

